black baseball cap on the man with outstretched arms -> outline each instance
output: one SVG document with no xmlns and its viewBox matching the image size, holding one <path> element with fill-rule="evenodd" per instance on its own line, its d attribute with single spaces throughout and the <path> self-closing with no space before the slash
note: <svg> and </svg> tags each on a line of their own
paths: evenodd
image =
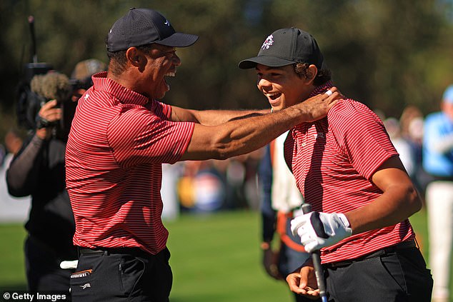
<svg viewBox="0 0 453 302">
<path fill-rule="evenodd" d="M 129 9 L 118 19 L 107 36 L 108 51 L 124 51 L 132 46 L 151 43 L 171 47 L 191 46 L 198 40 L 194 34 L 177 33 L 170 22 L 152 9 Z"/>
</svg>

